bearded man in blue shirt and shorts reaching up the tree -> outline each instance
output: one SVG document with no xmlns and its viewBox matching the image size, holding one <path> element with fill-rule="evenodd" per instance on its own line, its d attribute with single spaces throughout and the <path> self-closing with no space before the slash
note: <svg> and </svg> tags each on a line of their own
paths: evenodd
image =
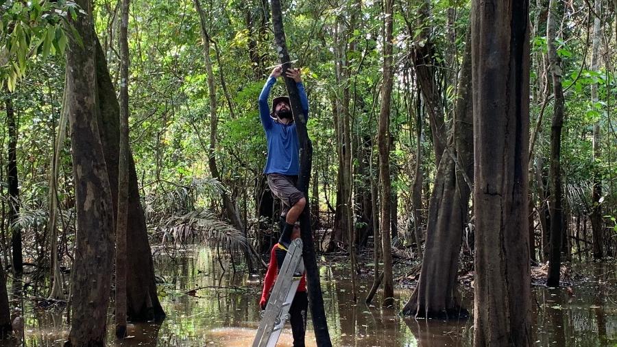
<svg viewBox="0 0 617 347">
<path fill-rule="evenodd" d="M 268 143 L 268 157 L 263 173 L 267 176 L 270 190 L 282 202 L 280 239 L 275 250 L 279 267 L 285 260 L 287 248 L 291 243 L 293 226 L 306 205 L 304 193 L 295 187 L 300 171 L 300 160 L 298 160 L 298 134 L 295 131 L 289 97 L 275 97 L 272 100 L 272 112 L 268 107 L 270 89 L 281 73 L 282 67 L 274 68 L 259 95 L 259 115 Z M 300 69 L 287 69 L 286 75 L 298 86 L 302 110 L 308 117 L 309 100 L 306 99 Z"/>
</svg>

